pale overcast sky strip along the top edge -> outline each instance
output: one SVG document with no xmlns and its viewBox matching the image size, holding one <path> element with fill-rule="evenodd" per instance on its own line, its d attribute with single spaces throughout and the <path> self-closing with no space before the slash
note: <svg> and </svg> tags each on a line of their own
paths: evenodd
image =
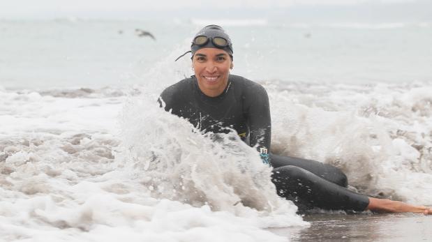
<svg viewBox="0 0 432 242">
<path fill-rule="evenodd" d="M 416 4 L 429 0 L 0 0 L 1 18 L 128 17 L 128 13 L 190 9 L 260 9 L 293 6 L 356 6 L 362 4 Z M 175 16 L 173 16 L 175 17 Z"/>
</svg>

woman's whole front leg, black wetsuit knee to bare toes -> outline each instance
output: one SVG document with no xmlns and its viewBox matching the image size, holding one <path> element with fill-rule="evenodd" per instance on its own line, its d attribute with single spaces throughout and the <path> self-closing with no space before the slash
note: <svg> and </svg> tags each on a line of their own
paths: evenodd
<svg viewBox="0 0 432 242">
<path fill-rule="evenodd" d="M 300 167 L 290 165 L 278 167 L 273 170 L 271 181 L 276 185 L 278 195 L 290 199 L 299 206 L 299 210 L 320 208 L 432 215 L 430 207 L 367 197 L 322 179 Z"/>
</svg>

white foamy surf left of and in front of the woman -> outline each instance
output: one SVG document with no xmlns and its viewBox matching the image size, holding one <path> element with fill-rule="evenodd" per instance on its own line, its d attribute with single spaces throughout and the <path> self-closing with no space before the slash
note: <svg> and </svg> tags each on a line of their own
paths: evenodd
<svg viewBox="0 0 432 242">
<path fill-rule="evenodd" d="M 307 225 L 276 197 L 269 167 L 233 135 L 211 142 L 152 98 L 129 98 L 137 103 L 123 108 L 125 96 L 69 93 L 1 93 L 21 100 L 20 108 L 2 107 L 9 117 L 1 119 L 2 239 L 285 241 L 263 228 Z M 61 121 L 73 105 L 77 114 L 102 116 L 79 129 L 80 115 Z M 41 108 L 22 112 L 34 106 Z M 113 116 L 122 108 L 118 135 Z M 10 130 L 18 122 L 20 135 Z"/>
</svg>

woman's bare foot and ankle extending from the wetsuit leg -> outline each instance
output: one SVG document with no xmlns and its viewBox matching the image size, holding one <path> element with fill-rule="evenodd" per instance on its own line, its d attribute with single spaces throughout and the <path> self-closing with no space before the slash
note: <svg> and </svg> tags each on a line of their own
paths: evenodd
<svg viewBox="0 0 432 242">
<path fill-rule="evenodd" d="M 414 206 L 405 202 L 373 197 L 369 197 L 369 205 L 366 209 L 381 213 L 423 213 L 424 215 L 432 215 L 432 209 L 426 206 Z"/>
</svg>

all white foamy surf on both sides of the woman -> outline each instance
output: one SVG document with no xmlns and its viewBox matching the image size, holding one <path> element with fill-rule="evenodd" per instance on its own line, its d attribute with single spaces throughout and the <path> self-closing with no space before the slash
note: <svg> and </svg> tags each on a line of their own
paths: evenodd
<svg viewBox="0 0 432 242">
<path fill-rule="evenodd" d="M 430 84 L 266 87 L 274 153 L 341 167 L 366 194 L 432 204 Z M 147 88 L 0 91 L 1 238 L 281 241 L 262 228 L 305 225 L 254 149 L 194 131 Z"/>
</svg>

